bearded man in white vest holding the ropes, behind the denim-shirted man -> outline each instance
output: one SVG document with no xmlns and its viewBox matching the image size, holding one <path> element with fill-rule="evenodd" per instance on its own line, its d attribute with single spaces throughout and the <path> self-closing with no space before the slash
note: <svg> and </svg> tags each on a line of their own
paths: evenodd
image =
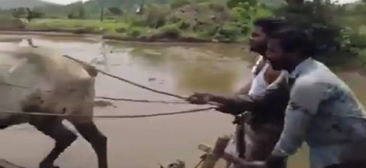
<svg viewBox="0 0 366 168">
<path fill-rule="evenodd" d="M 254 30 L 250 37 L 250 49 L 253 52 L 259 53 L 259 59 L 252 69 L 254 74 L 253 80 L 240 89 L 240 91 L 236 93 L 236 96 L 243 94 L 261 94 L 269 84 L 277 79 L 280 72 L 273 70 L 266 59 L 267 35 L 278 30 L 280 27 L 283 27 L 284 24 L 285 22 L 283 19 L 277 18 L 262 18 L 255 20 Z M 224 97 L 214 96 L 208 93 L 195 93 L 188 98 L 188 101 L 193 104 L 205 104 L 208 101 L 221 103 L 220 100 L 223 98 Z M 234 111 L 231 114 L 236 115 Z M 282 123 L 273 124 L 268 120 L 262 122 L 261 119 L 258 120 L 258 117 L 256 117 L 255 122 L 246 122 L 244 124 L 244 117 L 247 116 L 237 117 L 237 120 L 235 121 L 238 124 L 236 134 L 229 142 L 225 152 L 233 154 L 236 157 L 245 157 L 248 161 L 264 160 L 268 157 L 278 140 L 278 136 L 282 131 Z M 251 121 L 254 121 L 254 119 Z M 257 129 L 254 129 L 254 127 Z M 245 138 L 244 134 L 246 134 Z M 233 168 L 234 164 L 228 163 L 227 167 Z"/>
</svg>

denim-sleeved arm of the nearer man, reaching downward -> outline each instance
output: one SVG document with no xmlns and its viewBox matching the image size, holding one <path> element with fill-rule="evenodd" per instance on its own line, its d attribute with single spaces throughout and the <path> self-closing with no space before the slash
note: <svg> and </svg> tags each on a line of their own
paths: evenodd
<svg viewBox="0 0 366 168">
<path fill-rule="evenodd" d="M 305 140 L 309 121 L 326 95 L 325 86 L 305 80 L 297 81 L 290 94 L 285 111 L 284 130 L 272 155 L 288 157 L 296 152 Z"/>
</svg>

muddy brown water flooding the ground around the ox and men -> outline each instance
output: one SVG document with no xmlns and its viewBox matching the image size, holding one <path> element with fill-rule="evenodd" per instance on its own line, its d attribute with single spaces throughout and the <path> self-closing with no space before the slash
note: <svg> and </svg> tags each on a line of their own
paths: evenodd
<svg viewBox="0 0 366 168">
<path fill-rule="evenodd" d="M 24 36 L 4 35 L 0 37 L 0 44 L 19 42 L 22 38 Z M 250 80 L 249 67 L 254 62 L 254 55 L 239 44 L 108 42 L 113 52 L 103 57 L 101 45 L 93 39 L 35 36 L 34 43 L 59 48 L 64 54 L 90 62 L 111 74 L 179 95 L 194 91 L 234 92 Z M 340 76 L 361 101 L 366 102 L 362 94 L 366 78 L 354 73 Z M 97 96 L 175 100 L 105 75 L 97 76 L 96 92 Z M 136 115 L 199 108 L 195 105 L 112 103 L 117 108 L 96 108 L 96 115 Z M 202 154 L 197 149 L 199 143 L 212 145 L 218 136 L 233 132 L 232 119 L 219 112 L 204 111 L 139 119 L 95 119 L 95 122 L 108 137 L 110 168 L 156 168 L 158 163 L 176 159 L 185 161 L 189 168 Z M 27 124 L 1 130 L 0 135 L 0 158 L 27 168 L 37 168 L 53 146 L 51 138 Z M 304 147 L 291 157 L 290 168 L 306 168 L 308 161 Z M 56 164 L 61 168 L 97 168 L 91 146 L 81 137 L 61 154 Z"/>
</svg>

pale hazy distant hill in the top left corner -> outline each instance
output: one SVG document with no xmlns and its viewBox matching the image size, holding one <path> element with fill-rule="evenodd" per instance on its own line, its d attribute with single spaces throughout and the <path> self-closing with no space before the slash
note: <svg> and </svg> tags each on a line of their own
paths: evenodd
<svg viewBox="0 0 366 168">
<path fill-rule="evenodd" d="M 33 8 L 50 4 L 54 3 L 42 0 L 0 0 L 0 8 L 5 10 L 19 7 Z"/>
</svg>

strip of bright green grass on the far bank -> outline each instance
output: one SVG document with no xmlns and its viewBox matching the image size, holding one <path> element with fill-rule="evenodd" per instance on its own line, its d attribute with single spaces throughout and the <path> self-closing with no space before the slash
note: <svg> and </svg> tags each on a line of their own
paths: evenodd
<svg viewBox="0 0 366 168">
<path fill-rule="evenodd" d="M 179 38 L 196 39 L 196 41 L 214 41 L 211 37 L 204 36 L 205 31 L 195 32 L 191 30 L 180 30 L 179 24 L 169 23 L 158 29 L 153 29 L 147 26 L 133 25 L 132 22 L 116 21 L 116 20 L 104 20 L 101 22 L 96 19 L 61 19 L 61 18 L 46 18 L 46 19 L 34 19 L 31 22 L 23 20 L 28 29 L 51 29 L 55 31 L 80 31 L 82 33 L 96 33 L 102 32 L 105 36 L 112 37 L 113 39 L 130 39 L 137 37 L 150 38 L 159 36 L 164 38 L 164 34 L 177 33 Z M 179 39 L 178 39 L 179 40 Z M 243 39 L 239 39 L 243 40 Z M 217 41 L 215 41 L 217 42 Z"/>
</svg>

